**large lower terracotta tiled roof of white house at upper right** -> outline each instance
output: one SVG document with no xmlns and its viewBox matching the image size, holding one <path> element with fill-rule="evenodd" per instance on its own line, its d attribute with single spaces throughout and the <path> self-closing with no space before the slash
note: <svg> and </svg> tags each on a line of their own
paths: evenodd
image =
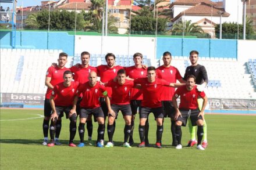
<svg viewBox="0 0 256 170">
<path fill-rule="evenodd" d="M 200 3 L 189 9 L 183 10 L 179 15 L 177 15 L 172 21 L 176 21 L 182 15 L 203 15 L 203 16 L 219 16 L 220 12 L 223 12 L 222 16 L 229 16 L 230 14 L 225 12 L 223 8 L 216 8 L 207 3 Z"/>
</svg>

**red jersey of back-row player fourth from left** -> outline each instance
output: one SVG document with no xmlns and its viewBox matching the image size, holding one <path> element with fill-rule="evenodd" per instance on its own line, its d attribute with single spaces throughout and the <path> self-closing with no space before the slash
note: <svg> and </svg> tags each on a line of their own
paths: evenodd
<svg viewBox="0 0 256 170">
<path fill-rule="evenodd" d="M 126 75 L 130 78 L 145 78 L 147 77 L 147 69 L 145 68 L 136 68 L 135 66 L 125 68 Z M 140 89 L 132 88 L 130 91 L 131 100 L 142 100 L 143 95 Z"/>
</svg>

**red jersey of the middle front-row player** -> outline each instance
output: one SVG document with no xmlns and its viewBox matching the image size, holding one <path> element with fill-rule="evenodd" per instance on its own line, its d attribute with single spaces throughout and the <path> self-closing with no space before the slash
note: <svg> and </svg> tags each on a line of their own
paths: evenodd
<svg viewBox="0 0 256 170">
<path fill-rule="evenodd" d="M 120 85 L 114 82 L 113 79 L 109 81 L 106 86 L 112 88 L 111 104 L 130 104 L 130 90 L 133 88 L 133 81 L 127 80 L 125 84 Z"/>
</svg>

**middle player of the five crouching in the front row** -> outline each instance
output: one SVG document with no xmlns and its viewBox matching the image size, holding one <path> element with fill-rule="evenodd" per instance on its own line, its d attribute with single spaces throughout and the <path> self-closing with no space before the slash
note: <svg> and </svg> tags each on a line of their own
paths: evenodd
<svg viewBox="0 0 256 170">
<path fill-rule="evenodd" d="M 118 112 L 121 111 L 125 120 L 125 138 L 123 147 L 130 148 L 128 138 L 131 131 L 131 107 L 130 107 L 130 89 L 133 88 L 133 81 L 126 79 L 126 72 L 124 69 L 118 70 L 117 82 L 113 79 L 105 84 L 106 87 L 112 88 L 111 108 L 114 113 L 108 115 L 108 139 L 109 142 L 105 147 L 113 147 L 113 134 L 115 126 L 113 122 L 118 117 Z"/>
</svg>

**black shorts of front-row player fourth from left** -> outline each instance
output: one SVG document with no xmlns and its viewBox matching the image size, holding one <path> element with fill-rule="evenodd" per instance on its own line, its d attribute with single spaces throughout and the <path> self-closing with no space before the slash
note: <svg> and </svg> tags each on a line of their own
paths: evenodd
<svg viewBox="0 0 256 170">
<path fill-rule="evenodd" d="M 157 108 L 141 107 L 139 111 L 140 118 L 148 118 L 148 115 L 151 112 L 154 114 L 155 119 L 163 118 L 163 107 L 157 107 Z"/>
</svg>

